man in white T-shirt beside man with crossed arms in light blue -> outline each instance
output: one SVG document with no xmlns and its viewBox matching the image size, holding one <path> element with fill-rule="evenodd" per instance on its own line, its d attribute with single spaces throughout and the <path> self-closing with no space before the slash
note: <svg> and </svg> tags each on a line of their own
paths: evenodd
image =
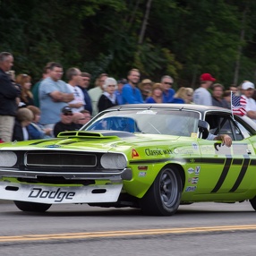
<svg viewBox="0 0 256 256">
<path fill-rule="evenodd" d="M 81 81 L 81 71 L 72 67 L 67 70 L 66 78 L 68 80 L 67 86 L 73 92 L 73 100 L 68 102 L 68 106 L 72 108 L 73 113 L 80 112 L 85 105 L 84 94 L 78 86 Z"/>
</svg>

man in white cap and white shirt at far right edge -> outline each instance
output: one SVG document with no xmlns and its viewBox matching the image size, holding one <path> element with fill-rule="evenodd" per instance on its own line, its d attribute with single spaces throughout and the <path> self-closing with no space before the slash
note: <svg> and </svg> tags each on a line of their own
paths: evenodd
<svg viewBox="0 0 256 256">
<path fill-rule="evenodd" d="M 256 102 L 252 98 L 254 93 L 254 84 L 251 81 L 244 81 L 241 85 L 242 96 L 246 100 L 246 115 L 256 123 Z"/>
</svg>

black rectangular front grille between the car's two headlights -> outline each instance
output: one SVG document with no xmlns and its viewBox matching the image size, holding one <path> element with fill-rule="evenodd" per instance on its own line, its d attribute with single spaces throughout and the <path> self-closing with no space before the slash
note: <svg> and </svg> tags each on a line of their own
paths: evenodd
<svg viewBox="0 0 256 256">
<path fill-rule="evenodd" d="M 97 166 L 97 156 L 76 152 L 28 152 L 25 155 L 26 166 Z"/>
</svg>

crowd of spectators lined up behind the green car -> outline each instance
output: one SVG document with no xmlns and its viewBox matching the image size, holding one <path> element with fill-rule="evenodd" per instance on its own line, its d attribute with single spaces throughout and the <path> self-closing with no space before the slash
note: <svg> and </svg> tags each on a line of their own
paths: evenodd
<svg viewBox="0 0 256 256">
<path fill-rule="evenodd" d="M 79 130 L 92 116 L 108 107 L 122 104 L 178 103 L 231 107 L 231 91 L 243 94 L 247 115 L 256 122 L 254 84 L 244 81 L 240 87 L 228 90 L 209 73 L 200 77 L 200 87 L 177 86 L 174 79 L 163 75 L 159 81 L 149 78 L 141 81 L 138 69 L 132 69 L 127 79 L 115 80 L 101 73 L 95 87 L 89 90 L 90 73 L 77 67 L 69 68 L 63 79 L 61 64 L 50 62 L 43 69 L 41 80 L 31 84 L 28 74 L 15 76 L 12 71 L 13 55 L 0 53 L 0 139 L 26 141 L 56 137 L 59 132 Z M 240 90 L 239 90 L 240 89 Z"/>
</svg>

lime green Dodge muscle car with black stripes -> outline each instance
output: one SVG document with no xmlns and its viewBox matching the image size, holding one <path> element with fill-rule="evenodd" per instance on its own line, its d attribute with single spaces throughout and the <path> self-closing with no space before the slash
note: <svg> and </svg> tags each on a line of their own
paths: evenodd
<svg viewBox="0 0 256 256">
<path fill-rule="evenodd" d="M 209 132 L 228 134 L 232 146 Z M 34 212 L 87 203 L 167 216 L 202 201 L 256 209 L 255 134 L 251 119 L 220 107 L 112 107 L 80 131 L 0 144 L 0 199 Z"/>
</svg>

